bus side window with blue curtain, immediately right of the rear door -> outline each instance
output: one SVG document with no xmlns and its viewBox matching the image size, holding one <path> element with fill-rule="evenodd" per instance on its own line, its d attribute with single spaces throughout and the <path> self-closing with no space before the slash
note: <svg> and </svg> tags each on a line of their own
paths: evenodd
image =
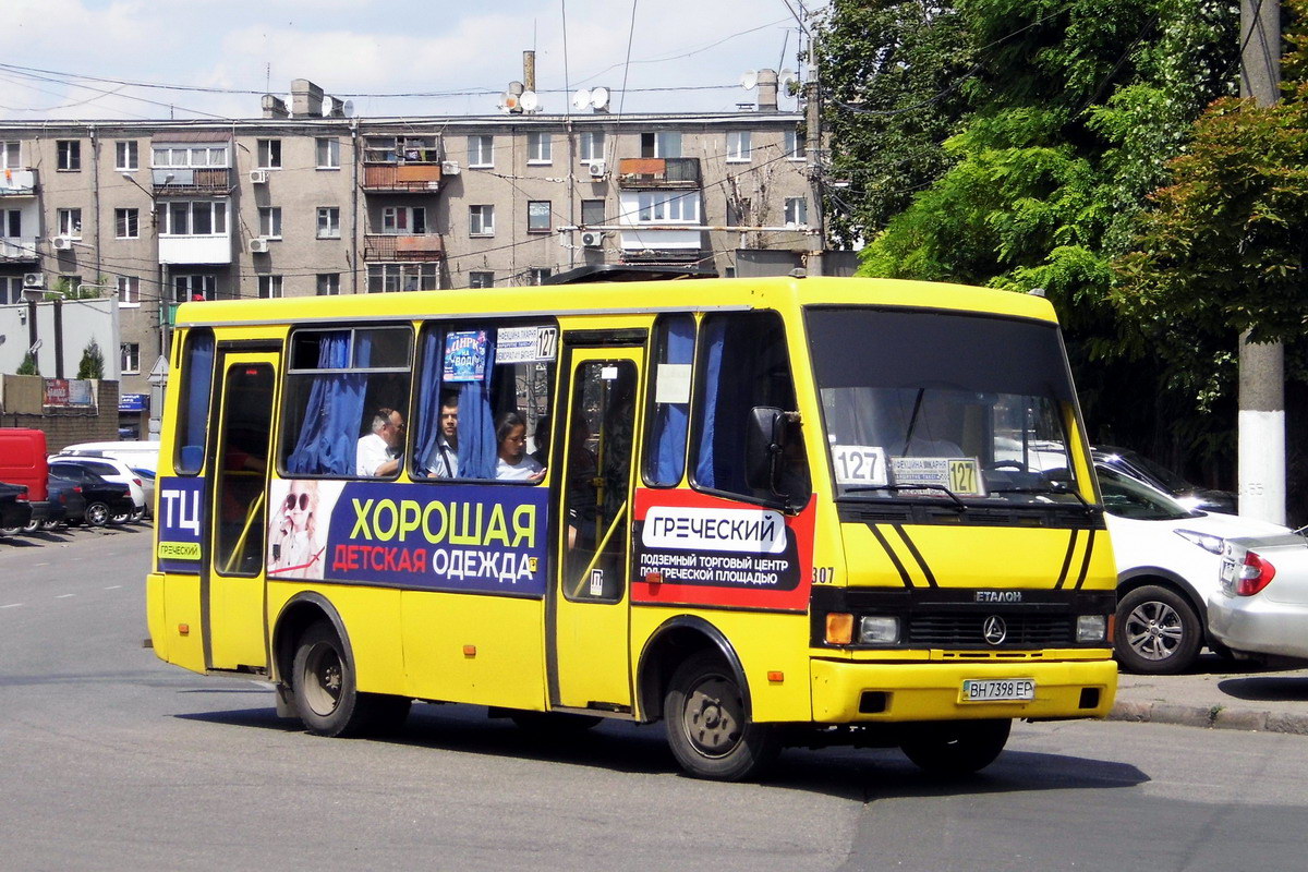
<svg viewBox="0 0 1308 872">
<path fill-rule="evenodd" d="M 379 409 L 408 409 L 408 327 L 305 329 L 290 337 L 281 425 L 286 476 L 354 477 Z M 402 448 L 396 448 L 402 456 Z"/>
</svg>

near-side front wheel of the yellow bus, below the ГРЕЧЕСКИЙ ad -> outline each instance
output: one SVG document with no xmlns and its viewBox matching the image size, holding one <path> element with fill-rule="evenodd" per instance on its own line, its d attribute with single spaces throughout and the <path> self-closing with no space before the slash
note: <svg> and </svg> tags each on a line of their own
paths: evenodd
<svg viewBox="0 0 1308 872">
<path fill-rule="evenodd" d="M 672 673 L 663 716 L 676 762 L 697 778 L 749 778 L 781 750 L 777 728 L 746 716 L 735 675 L 710 652 L 692 656 Z"/>
</svg>

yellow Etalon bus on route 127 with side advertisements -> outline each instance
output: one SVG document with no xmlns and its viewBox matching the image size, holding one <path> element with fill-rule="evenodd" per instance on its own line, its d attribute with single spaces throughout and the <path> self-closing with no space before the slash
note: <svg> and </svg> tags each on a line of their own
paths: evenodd
<svg viewBox="0 0 1308 872">
<path fill-rule="evenodd" d="M 319 735 L 413 701 L 972 771 L 1113 702 L 1112 550 L 1052 306 L 729 278 L 178 310 L 156 654 Z M 1054 458 L 1054 461 L 1050 461 Z"/>
</svg>

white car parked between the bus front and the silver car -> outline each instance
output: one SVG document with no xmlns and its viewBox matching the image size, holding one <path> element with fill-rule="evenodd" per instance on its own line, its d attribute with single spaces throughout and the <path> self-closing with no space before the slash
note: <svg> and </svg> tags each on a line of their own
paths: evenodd
<svg viewBox="0 0 1308 872">
<path fill-rule="evenodd" d="M 1096 464 L 1104 520 L 1117 561 L 1113 647 L 1127 672 L 1189 668 L 1205 643 L 1226 540 L 1275 536 L 1286 527 L 1186 509 L 1171 495 Z"/>
</svg>

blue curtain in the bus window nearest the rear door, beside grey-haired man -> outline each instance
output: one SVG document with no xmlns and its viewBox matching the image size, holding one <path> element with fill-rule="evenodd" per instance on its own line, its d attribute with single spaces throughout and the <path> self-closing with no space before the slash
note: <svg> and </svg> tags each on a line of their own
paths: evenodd
<svg viewBox="0 0 1308 872">
<path fill-rule="evenodd" d="M 357 363 L 368 365 L 370 345 L 366 333 L 362 333 Z M 349 331 L 322 335 L 318 340 L 318 366 L 349 366 Z M 286 472 L 306 476 L 354 475 L 358 422 L 364 418 L 368 377 L 327 373 L 311 378 L 305 421 L 300 426 L 296 450 L 286 458 Z"/>
</svg>

